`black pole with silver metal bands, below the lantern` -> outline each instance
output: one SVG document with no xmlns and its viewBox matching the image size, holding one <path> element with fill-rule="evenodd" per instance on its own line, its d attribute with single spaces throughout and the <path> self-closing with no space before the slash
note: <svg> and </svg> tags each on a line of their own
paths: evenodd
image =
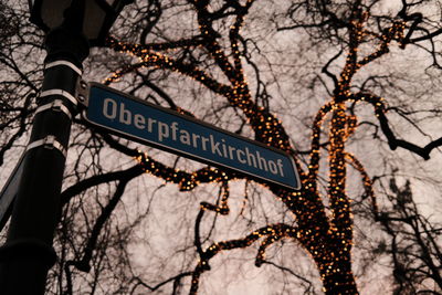
<svg viewBox="0 0 442 295">
<path fill-rule="evenodd" d="M 45 40 L 44 80 L 38 101 L 24 170 L 14 201 L 7 242 L 0 247 L 0 294 L 44 294 L 56 261 L 52 240 L 60 219 L 60 192 L 76 112 L 76 86 L 87 40 L 59 28 Z"/>
</svg>

